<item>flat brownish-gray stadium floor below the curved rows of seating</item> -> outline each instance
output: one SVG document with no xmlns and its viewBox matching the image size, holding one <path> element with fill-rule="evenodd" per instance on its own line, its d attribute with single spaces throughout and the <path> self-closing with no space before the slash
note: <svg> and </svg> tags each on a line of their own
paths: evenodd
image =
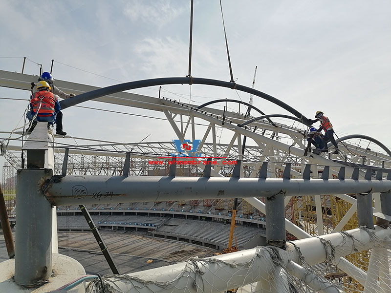
<svg viewBox="0 0 391 293">
<path fill-rule="evenodd" d="M 167 266 L 192 256 L 208 257 L 216 252 L 182 242 L 151 238 L 140 231 L 101 231 L 101 234 L 121 274 Z M 111 274 L 92 233 L 59 232 L 58 241 L 59 253 L 79 261 L 87 274 Z M 1 234 L 0 262 L 7 259 L 4 237 Z M 149 259 L 153 260 L 152 263 L 147 263 Z"/>
</svg>

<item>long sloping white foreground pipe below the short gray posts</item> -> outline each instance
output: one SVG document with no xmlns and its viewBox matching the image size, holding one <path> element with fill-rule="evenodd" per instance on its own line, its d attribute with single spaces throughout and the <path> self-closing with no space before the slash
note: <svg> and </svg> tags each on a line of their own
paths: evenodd
<svg viewBox="0 0 391 293">
<path fill-rule="evenodd" d="M 369 235 L 367 230 L 354 229 L 306 238 L 293 241 L 293 244 L 288 243 L 286 250 L 273 248 L 271 251 L 270 247 L 258 247 L 207 259 L 192 258 L 188 262 L 132 273 L 125 278 L 112 276 L 107 281 L 115 282 L 118 290 L 128 293 L 223 292 L 254 282 L 263 283 L 271 278 L 280 267 L 273 263 L 270 256 L 276 251 L 281 256 L 282 265 L 286 266 L 289 260 L 299 263 L 300 255 L 296 246 L 305 261 L 314 265 L 324 262 L 327 255 L 331 257 L 331 246 L 336 258 L 368 250 L 378 244 L 374 242 L 373 236 L 377 241 L 389 239 L 391 229 L 375 226 L 373 235 Z"/>
</svg>

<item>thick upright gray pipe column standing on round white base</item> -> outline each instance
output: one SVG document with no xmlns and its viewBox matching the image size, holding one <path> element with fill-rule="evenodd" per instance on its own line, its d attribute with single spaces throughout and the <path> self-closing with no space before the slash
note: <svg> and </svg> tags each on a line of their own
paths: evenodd
<svg viewBox="0 0 391 293">
<path fill-rule="evenodd" d="M 20 169 L 17 174 L 15 282 L 31 286 L 52 274 L 52 207 L 42 187 L 50 169 Z"/>
</svg>

